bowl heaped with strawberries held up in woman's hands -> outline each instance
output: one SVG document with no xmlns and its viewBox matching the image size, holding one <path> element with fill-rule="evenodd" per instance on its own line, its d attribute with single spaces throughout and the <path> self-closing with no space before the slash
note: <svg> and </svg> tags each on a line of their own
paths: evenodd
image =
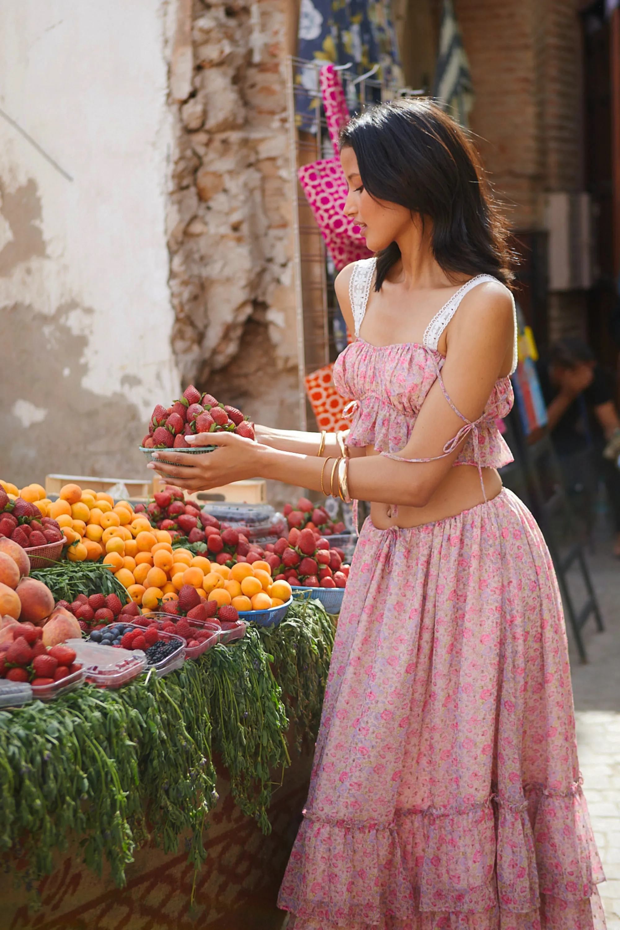
<svg viewBox="0 0 620 930">
<path fill-rule="evenodd" d="M 217 445 L 191 445 L 187 436 L 198 433 L 236 432 L 245 439 L 255 439 L 254 424 L 250 423 L 241 410 L 220 402 L 209 393 L 201 393 L 191 384 L 172 406 L 155 406 L 149 422 L 149 432 L 140 445 L 147 461 L 153 461 L 152 453 L 165 449 L 179 449 L 187 455 L 202 455 L 213 452 Z M 165 465 L 178 464 L 165 458 L 157 461 Z"/>
</svg>

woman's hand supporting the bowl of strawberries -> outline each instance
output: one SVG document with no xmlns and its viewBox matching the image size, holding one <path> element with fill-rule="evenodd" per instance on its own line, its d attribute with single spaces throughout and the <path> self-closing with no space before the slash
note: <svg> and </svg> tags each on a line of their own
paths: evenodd
<svg viewBox="0 0 620 930">
<path fill-rule="evenodd" d="M 234 432 L 200 432 L 185 437 L 192 446 L 218 445 L 213 452 L 198 456 L 180 449 L 157 449 L 147 468 L 157 472 L 165 482 L 187 491 L 206 491 L 211 487 L 229 485 L 231 481 L 260 477 L 262 454 L 267 446 L 244 439 Z M 175 465 L 157 461 L 161 455 Z"/>
</svg>

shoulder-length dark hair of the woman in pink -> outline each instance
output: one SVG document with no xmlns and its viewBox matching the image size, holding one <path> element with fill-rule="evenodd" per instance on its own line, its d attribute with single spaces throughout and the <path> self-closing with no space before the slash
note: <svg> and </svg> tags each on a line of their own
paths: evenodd
<svg viewBox="0 0 620 930">
<path fill-rule="evenodd" d="M 371 196 L 432 219 L 431 247 L 445 272 L 493 274 L 509 285 L 514 256 L 506 221 L 466 133 L 436 104 L 379 103 L 343 128 L 345 146 L 355 153 Z M 395 242 L 377 253 L 376 290 L 400 258 Z"/>
</svg>

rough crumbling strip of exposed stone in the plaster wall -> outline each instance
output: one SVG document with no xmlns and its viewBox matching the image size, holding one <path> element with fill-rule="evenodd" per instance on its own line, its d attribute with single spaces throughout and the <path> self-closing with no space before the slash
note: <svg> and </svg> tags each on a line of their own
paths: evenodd
<svg viewBox="0 0 620 930">
<path fill-rule="evenodd" d="M 285 428 L 298 426 L 284 92 L 293 12 L 290 0 L 180 0 L 170 82 L 181 377 Z"/>
</svg>

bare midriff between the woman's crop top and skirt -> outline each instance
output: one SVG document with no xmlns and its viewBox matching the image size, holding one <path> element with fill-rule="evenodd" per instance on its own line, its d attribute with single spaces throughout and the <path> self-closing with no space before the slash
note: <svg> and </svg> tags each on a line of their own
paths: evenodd
<svg viewBox="0 0 620 930">
<path fill-rule="evenodd" d="M 366 455 L 378 455 L 375 448 L 366 447 Z M 502 479 L 495 468 L 482 469 L 484 495 L 487 500 L 496 498 L 502 489 Z M 395 515 L 390 515 L 389 504 L 372 503 L 370 517 L 377 529 L 389 529 L 398 526 L 402 529 L 437 523 L 446 517 L 455 517 L 463 511 L 484 503 L 480 483 L 480 474 L 475 465 L 455 465 L 443 479 L 429 503 L 425 507 L 405 507 L 398 505 Z"/>
</svg>

